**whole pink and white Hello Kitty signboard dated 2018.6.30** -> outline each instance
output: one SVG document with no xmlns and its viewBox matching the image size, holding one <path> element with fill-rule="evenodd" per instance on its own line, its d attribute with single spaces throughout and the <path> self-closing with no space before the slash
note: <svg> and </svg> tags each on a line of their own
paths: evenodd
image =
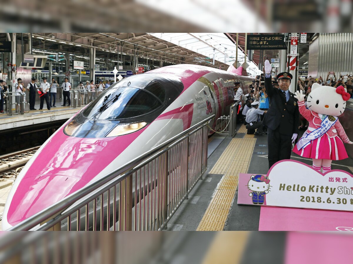
<svg viewBox="0 0 353 264">
<path fill-rule="evenodd" d="M 353 211 L 353 175 L 325 174 L 305 163 L 283 160 L 267 175 L 239 175 L 238 204 Z"/>
</svg>

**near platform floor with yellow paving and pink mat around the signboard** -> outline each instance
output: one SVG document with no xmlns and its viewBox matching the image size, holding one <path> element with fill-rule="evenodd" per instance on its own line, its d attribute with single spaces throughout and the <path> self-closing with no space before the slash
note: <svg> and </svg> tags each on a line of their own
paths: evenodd
<svg viewBox="0 0 353 264">
<path fill-rule="evenodd" d="M 267 174 L 268 147 L 266 134 L 248 135 L 242 124 L 237 131 L 234 138 L 214 135 L 209 139 L 208 169 L 169 220 L 168 231 L 329 231 L 316 222 L 321 218 L 353 221 L 353 212 L 238 205 L 239 173 Z M 311 159 L 293 152 L 291 159 L 312 165 Z M 352 158 L 333 161 L 332 169 L 352 174 Z"/>
</svg>

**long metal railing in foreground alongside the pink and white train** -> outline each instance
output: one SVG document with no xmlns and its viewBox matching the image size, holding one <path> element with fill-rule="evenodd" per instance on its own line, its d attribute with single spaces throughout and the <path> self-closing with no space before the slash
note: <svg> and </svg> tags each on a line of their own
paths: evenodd
<svg viewBox="0 0 353 264">
<path fill-rule="evenodd" d="M 10 230 L 163 230 L 207 169 L 214 116 Z"/>
</svg>

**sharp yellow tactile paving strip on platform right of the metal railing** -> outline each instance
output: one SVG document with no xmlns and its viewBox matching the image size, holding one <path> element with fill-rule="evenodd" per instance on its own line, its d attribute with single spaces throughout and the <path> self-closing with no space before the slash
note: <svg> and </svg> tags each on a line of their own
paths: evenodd
<svg viewBox="0 0 353 264">
<path fill-rule="evenodd" d="M 232 139 L 211 169 L 210 174 L 223 174 L 224 176 L 216 188 L 197 231 L 223 230 L 238 187 L 239 173 L 246 173 L 249 169 L 255 143 L 255 138 Z M 219 214 L 220 212 L 222 215 Z"/>
</svg>

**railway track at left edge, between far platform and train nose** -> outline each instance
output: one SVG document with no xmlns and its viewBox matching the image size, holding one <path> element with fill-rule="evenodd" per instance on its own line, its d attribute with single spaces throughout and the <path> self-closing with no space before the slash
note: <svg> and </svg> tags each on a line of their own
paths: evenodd
<svg viewBox="0 0 353 264">
<path fill-rule="evenodd" d="M 23 166 L 40 146 L 0 156 L 0 180 L 16 178 Z"/>
</svg>

